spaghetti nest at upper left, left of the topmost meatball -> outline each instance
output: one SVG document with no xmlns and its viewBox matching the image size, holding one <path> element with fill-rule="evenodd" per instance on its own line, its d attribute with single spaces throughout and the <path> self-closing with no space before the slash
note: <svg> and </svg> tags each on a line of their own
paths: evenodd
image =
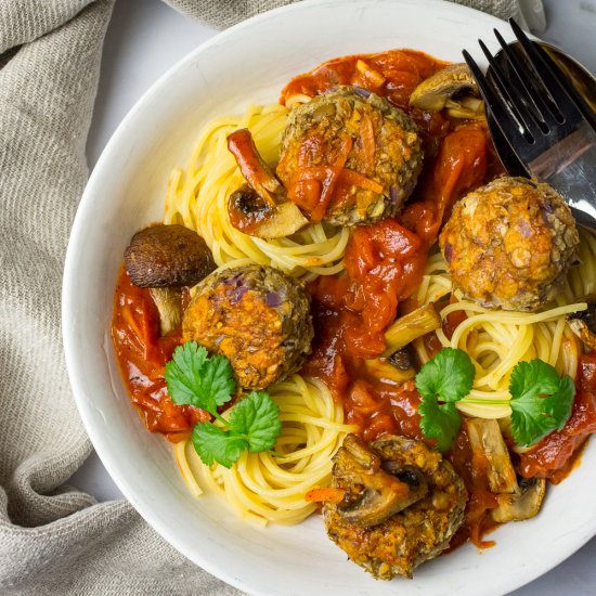
<svg viewBox="0 0 596 596">
<path fill-rule="evenodd" d="M 350 235 L 347 228 L 316 223 L 286 238 L 263 239 L 230 224 L 228 197 L 244 179 L 228 151 L 228 135 L 248 128 L 263 159 L 275 164 L 286 115 L 278 104 L 251 106 L 241 117 L 218 118 L 206 127 L 186 168 L 176 169 L 170 177 L 164 222 L 198 232 L 220 267 L 270 264 L 307 280 L 339 273 Z"/>
</svg>

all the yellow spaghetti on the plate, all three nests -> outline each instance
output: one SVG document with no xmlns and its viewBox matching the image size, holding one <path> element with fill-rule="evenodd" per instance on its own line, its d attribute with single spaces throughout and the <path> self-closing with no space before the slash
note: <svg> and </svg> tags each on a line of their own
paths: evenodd
<svg viewBox="0 0 596 596">
<path fill-rule="evenodd" d="M 198 232 L 219 268 L 269 264 L 306 281 L 337 274 L 344 270 L 348 228 L 318 223 L 290 237 L 263 239 L 237 231 L 228 217 L 228 197 L 244 182 L 228 151 L 228 135 L 248 128 L 263 159 L 273 165 L 278 159 L 286 117 L 287 109 L 274 104 L 251 106 L 243 116 L 211 122 L 186 168 L 170 177 L 165 223 L 181 223 Z M 443 347 L 467 351 L 477 370 L 469 396 L 475 402 L 458 403 L 463 413 L 483 418 L 509 416 L 508 405 L 493 402 L 509 398 L 509 375 L 519 361 L 540 358 L 574 378 L 580 344 L 566 316 L 586 308 L 578 300 L 594 291 L 596 280 L 596 237 L 585 231 L 581 236 L 581 264 L 570 272 L 558 303 L 539 313 L 493 311 L 468 301 L 452 290 L 441 255 L 428 259 L 414 298 L 420 305 L 443 303 L 441 319 L 461 319 L 451 337 L 440 328 L 437 339 Z M 427 362 L 430 354 L 425 341 L 420 338 L 414 345 L 420 362 Z M 316 508 L 305 494 L 328 483 L 332 458 L 354 428 L 344 424 L 341 404 L 334 402 L 319 380 L 294 375 L 270 393 L 283 423 L 276 454 L 244 452 L 228 469 L 203 464 L 192 441 L 184 440 L 177 444 L 176 457 L 192 494 L 213 492 L 256 523 L 297 523 Z"/>
</svg>

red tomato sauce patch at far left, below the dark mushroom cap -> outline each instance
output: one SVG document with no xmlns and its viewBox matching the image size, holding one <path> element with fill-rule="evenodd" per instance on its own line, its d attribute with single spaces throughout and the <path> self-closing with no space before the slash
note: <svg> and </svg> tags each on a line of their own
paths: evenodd
<svg viewBox="0 0 596 596">
<path fill-rule="evenodd" d="M 209 414 L 169 398 L 164 366 L 181 341 L 180 329 L 159 335 L 159 313 L 146 288 L 133 285 L 122 267 L 114 299 L 112 338 L 122 378 L 146 427 L 170 441 L 186 438 Z"/>
</svg>

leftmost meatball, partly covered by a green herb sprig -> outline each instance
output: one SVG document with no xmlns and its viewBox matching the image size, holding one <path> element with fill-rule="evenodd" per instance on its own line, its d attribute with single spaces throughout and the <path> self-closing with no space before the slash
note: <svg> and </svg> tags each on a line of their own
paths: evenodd
<svg viewBox="0 0 596 596">
<path fill-rule="evenodd" d="M 300 368 L 313 337 L 302 285 L 271 267 L 215 271 L 196 286 L 182 337 L 230 360 L 238 384 L 264 389 Z"/>
</svg>

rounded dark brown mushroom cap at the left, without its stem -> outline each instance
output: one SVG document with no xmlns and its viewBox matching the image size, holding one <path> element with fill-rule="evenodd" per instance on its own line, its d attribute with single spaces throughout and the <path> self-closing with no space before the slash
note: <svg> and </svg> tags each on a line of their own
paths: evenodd
<svg viewBox="0 0 596 596">
<path fill-rule="evenodd" d="M 152 225 L 137 232 L 125 267 L 139 287 L 194 286 L 216 269 L 205 241 L 183 225 Z"/>
</svg>

